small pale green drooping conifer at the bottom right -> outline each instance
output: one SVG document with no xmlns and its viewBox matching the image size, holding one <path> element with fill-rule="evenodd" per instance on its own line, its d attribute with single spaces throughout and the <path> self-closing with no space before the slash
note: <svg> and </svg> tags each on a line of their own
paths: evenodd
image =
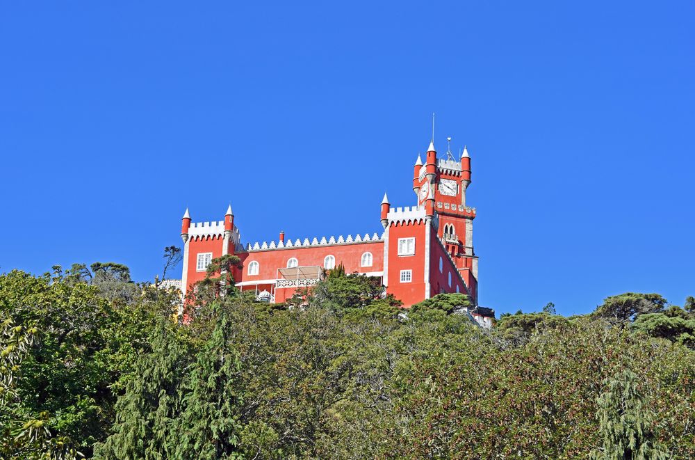
<svg viewBox="0 0 695 460">
<path fill-rule="evenodd" d="M 637 375 L 624 370 L 607 379 L 607 390 L 598 397 L 600 436 L 603 446 L 591 452 L 600 460 L 660 460 L 669 454 L 654 433 L 654 414 L 637 388 Z"/>
</svg>

